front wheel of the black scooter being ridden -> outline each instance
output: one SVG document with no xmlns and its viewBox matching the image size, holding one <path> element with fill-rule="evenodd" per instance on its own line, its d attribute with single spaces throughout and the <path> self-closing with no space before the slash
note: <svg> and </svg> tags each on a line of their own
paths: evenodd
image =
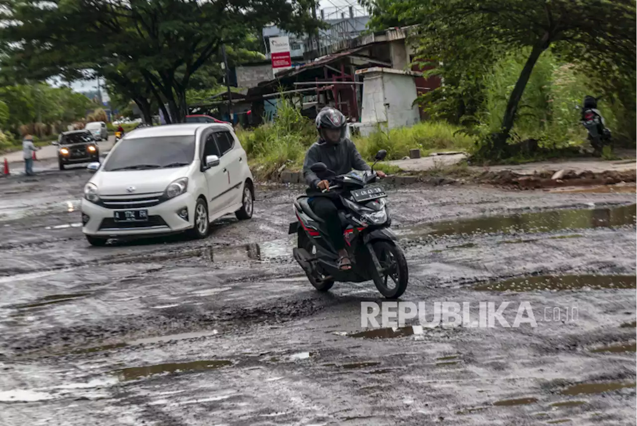
<svg viewBox="0 0 637 426">
<path fill-rule="evenodd" d="M 368 245 L 369 247 L 369 245 Z M 372 256 L 376 259 L 371 263 L 370 275 L 376 289 L 387 299 L 397 299 L 407 289 L 409 271 L 403 249 L 389 241 L 376 241 L 371 244 Z M 376 260 L 381 268 L 378 270 Z"/>
</svg>

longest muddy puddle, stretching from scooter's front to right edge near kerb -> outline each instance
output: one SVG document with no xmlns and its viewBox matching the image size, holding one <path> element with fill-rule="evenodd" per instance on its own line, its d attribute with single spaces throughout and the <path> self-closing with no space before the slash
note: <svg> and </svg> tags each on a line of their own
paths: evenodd
<svg viewBox="0 0 637 426">
<path fill-rule="evenodd" d="M 637 204 L 600 209 L 562 209 L 488 216 L 397 230 L 402 237 L 471 235 L 477 233 L 541 233 L 571 229 L 610 228 L 637 224 Z"/>
</svg>

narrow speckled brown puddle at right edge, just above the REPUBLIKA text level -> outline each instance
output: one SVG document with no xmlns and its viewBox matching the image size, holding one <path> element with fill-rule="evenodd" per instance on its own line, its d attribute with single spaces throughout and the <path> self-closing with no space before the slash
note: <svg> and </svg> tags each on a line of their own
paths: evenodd
<svg viewBox="0 0 637 426">
<path fill-rule="evenodd" d="M 534 291 L 574 289 L 637 289 L 634 275 L 562 275 L 513 278 L 500 282 L 486 282 L 473 287 L 477 291 Z"/>
</svg>

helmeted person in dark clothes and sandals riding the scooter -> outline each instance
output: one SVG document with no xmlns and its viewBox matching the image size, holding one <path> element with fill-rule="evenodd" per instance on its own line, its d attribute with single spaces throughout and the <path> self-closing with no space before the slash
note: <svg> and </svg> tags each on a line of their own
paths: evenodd
<svg viewBox="0 0 637 426">
<path fill-rule="evenodd" d="M 317 115 L 316 126 L 318 141 L 315 142 L 305 155 L 303 163 L 303 177 L 310 188 L 307 194 L 310 207 L 326 223 L 327 233 L 338 251 L 338 266 L 341 270 L 352 269 L 347 250 L 345 249 L 345 237 L 341 228 L 341 219 L 338 210 L 343 208 L 337 193 L 322 193 L 329 188 L 329 182 L 321 180 L 310 170 L 314 163 L 325 163 L 329 170 L 336 175 L 346 174 L 352 170 L 371 170 L 369 164 L 362 159 L 354 142 L 345 137 L 347 121 L 345 116 L 333 107 L 324 107 Z M 376 170 L 378 177 L 385 177 L 385 173 Z"/>
</svg>

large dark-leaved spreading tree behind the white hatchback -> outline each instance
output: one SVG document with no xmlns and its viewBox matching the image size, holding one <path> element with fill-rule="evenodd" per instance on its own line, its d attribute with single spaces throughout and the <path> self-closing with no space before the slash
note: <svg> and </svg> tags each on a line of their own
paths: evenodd
<svg viewBox="0 0 637 426">
<path fill-rule="evenodd" d="M 143 104 L 152 93 L 160 107 L 168 105 L 174 121 L 183 121 L 191 80 L 222 43 L 241 46 L 269 23 L 293 32 L 316 26 L 311 0 L 54 0 L 47 8 L 23 0 L 4 3 L 4 68 L 40 78 L 77 77 L 93 69 L 135 102 Z M 140 81 L 143 90 L 132 93 Z"/>
</svg>

